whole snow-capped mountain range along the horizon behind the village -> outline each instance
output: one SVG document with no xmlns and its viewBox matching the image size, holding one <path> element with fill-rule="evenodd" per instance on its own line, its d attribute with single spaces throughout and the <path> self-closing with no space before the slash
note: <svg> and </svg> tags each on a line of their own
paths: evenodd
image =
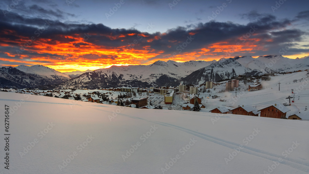
<svg viewBox="0 0 309 174">
<path fill-rule="evenodd" d="M 111 66 L 88 72 L 61 73 L 42 65 L 0 68 L 0 87 L 149 87 L 220 81 L 239 74 L 259 75 L 271 72 L 305 70 L 309 56 L 290 59 L 282 56 L 222 58 L 219 61 L 156 61 L 150 65 Z M 77 76 L 77 77 L 76 77 Z M 74 77 L 74 78 L 73 78 Z M 49 86 L 48 86 L 49 85 Z"/>
</svg>

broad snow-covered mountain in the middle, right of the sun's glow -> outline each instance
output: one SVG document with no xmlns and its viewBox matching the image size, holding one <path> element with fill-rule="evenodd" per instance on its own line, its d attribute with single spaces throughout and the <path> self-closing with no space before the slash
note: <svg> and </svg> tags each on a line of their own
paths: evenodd
<svg viewBox="0 0 309 174">
<path fill-rule="evenodd" d="M 114 86 L 165 85 L 188 76 L 195 70 L 201 69 L 217 61 L 156 61 L 150 65 L 111 66 L 83 73 L 61 85 L 72 87 L 105 88 Z"/>
</svg>

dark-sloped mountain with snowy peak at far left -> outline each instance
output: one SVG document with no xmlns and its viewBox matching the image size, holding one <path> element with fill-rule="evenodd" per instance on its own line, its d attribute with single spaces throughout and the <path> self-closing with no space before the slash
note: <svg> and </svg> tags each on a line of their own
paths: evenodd
<svg viewBox="0 0 309 174">
<path fill-rule="evenodd" d="M 70 76 L 43 65 L 0 68 L 0 87 L 34 88 L 55 85 L 70 79 Z"/>
</svg>

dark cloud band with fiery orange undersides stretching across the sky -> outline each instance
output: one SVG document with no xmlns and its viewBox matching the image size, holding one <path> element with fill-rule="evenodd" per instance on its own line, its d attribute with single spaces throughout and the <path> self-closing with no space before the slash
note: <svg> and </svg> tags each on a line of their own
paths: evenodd
<svg viewBox="0 0 309 174">
<path fill-rule="evenodd" d="M 151 3 L 151 2 L 149 2 Z M 191 39 L 192 42 L 186 44 L 187 46 L 181 50 L 181 53 L 191 53 L 202 48 L 209 48 L 210 45 L 218 42 L 228 42 L 227 44 L 235 45 L 240 41 L 240 37 L 248 34 L 255 28 L 254 34 L 250 34 L 250 39 L 256 39 L 256 45 L 261 45 L 267 48 L 263 51 L 253 50 L 255 54 L 266 55 L 276 54 L 278 50 L 285 45 L 291 45 L 291 39 L 295 42 L 303 41 L 304 36 L 308 33 L 298 29 L 286 30 L 287 26 L 290 26 L 293 21 L 289 19 L 277 19 L 271 14 L 258 14 L 252 11 L 248 14 L 243 14 L 243 18 L 247 18 L 250 22 L 246 25 L 240 25 L 233 22 L 215 22 L 210 21 L 207 23 L 191 24 L 185 27 L 177 27 L 168 30 L 166 33 L 142 33 L 134 28 L 132 29 L 111 29 L 103 24 L 79 24 L 79 23 L 63 23 L 59 20 L 49 20 L 47 16 L 54 16 L 61 18 L 67 16 L 65 12 L 60 10 L 46 10 L 40 6 L 33 5 L 30 7 L 34 12 L 38 14 L 45 14 L 39 17 L 22 16 L 11 12 L 6 18 L 0 19 L 0 44 L 8 44 L 10 49 L 0 49 L 1 57 L 10 58 L 3 52 L 15 53 L 16 48 L 19 48 L 19 43 L 12 41 L 19 41 L 21 38 L 30 38 L 35 36 L 35 31 L 38 28 L 43 28 L 46 22 L 50 23 L 49 27 L 44 30 L 38 38 L 49 39 L 48 44 L 52 47 L 60 43 L 77 43 L 70 45 L 72 49 L 81 49 L 80 47 L 95 45 L 96 48 L 102 49 L 117 49 L 123 51 L 127 49 L 131 43 L 133 44 L 133 50 L 145 50 L 147 48 L 148 53 L 159 53 L 158 56 L 149 58 L 148 61 L 154 60 L 160 57 L 166 57 L 174 52 L 179 53 L 180 45 Z M 305 13 L 298 14 L 297 18 L 304 18 Z M 6 34 L 7 31 L 13 31 L 13 33 Z M 83 38 L 87 35 L 91 37 L 83 42 L 75 40 L 75 38 Z M 71 36 L 71 37 L 65 37 Z M 142 37 L 141 37 L 142 36 Z M 268 40 L 268 41 L 267 41 Z M 137 41 L 137 42 L 136 42 Z M 247 41 L 249 42 L 249 41 Z M 246 44 L 246 42 L 244 43 Z M 33 46 L 40 45 L 40 41 L 32 43 Z M 296 45 L 294 45 L 296 46 Z M 14 48 L 15 47 L 15 48 Z M 7 47 L 0 47 L 7 48 Z M 73 59 L 73 56 L 68 54 L 67 56 L 50 54 L 50 53 L 35 53 L 39 47 L 32 48 L 32 51 L 24 51 L 23 54 L 29 57 L 46 57 L 46 60 L 66 60 Z M 291 48 L 289 53 L 299 54 L 305 52 L 307 49 Z M 235 53 L 238 54 L 238 53 Z M 246 53 L 250 55 L 252 53 Z M 278 54 L 278 53 L 277 53 Z M 95 60 L 95 59 L 110 59 L 115 60 L 117 55 L 95 55 L 86 54 L 83 58 Z M 18 57 L 14 57 L 18 58 Z M 147 60 L 146 60 L 147 61 Z"/>
</svg>

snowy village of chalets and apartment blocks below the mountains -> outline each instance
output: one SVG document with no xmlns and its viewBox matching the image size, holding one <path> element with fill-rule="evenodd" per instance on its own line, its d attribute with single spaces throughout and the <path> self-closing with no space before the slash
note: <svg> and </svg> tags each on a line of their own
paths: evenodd
<svg viewBox="0 0 309 174">
<path fill-rule="evenodd" d="M 305 72 L 303 76 L 307 75 Z M 184 111 L 200 111 L 200 112 L 211 112 L 218 114 L 238 114 L 248 115 L 257 117 L 272 117 L 280 119 L 309 119 L 309 113 L 303 114 L 298 109 L 295 101 L 295 96 L 292 95 L 292 87 L 289 86 L 297 84 L 297 81 L 304 80 L 307 82 L 307 78 L 301 80 L 289 80 L 290 78 L 282 78 L 292 74 L 290 72 L 285 74 L 273 74 L 273 76 L 256 76 L 246 77 L 246 75 L 239 75 L 237 78 L 222 81 L 212 82 L 207 81 L 201 85 L 178 85 L 178 86 L 162 86 L 162 87 L 149 87 L 149 88 L 138 88 L 138 87 L 115 87 L 107 89 L 53 89 L 53 90 L 40 90 L 40 89 L 8 89 L 10 92 L 41 95 L 49 97 L 59 97 L 69 100 L 78 100 L 84 102 L 95 102 L 104 105 L 118 105 L 124 107 L 132 107 L 139 109 L 170 109 L 170 110 L 184 110 Z M 293 75 L 292 74 L 292 75 Z M 272 79 L 278 77 L 281 83 L 273 81 Z M 281 79 L 282 78 L 282 79 Z M 266 91 L 281 91 L 286 90 L 286 86 L 283 84 L 284 80 L 289 81 L 287 90 L 291 93 L 273 102 L 265 101 L 262 105 L 255 105 L 252 101 L 242 102 L 241 100 L 250 100 L 251 98 L 257 98 L 265 95 Z M 291 84 L 292 83 L 292 84 Z M 287 82 L 286 82 L 287 84 Z M 276 85 L 276 87 L 274 87 Z M 278 86 L 277 86 L 278 85 Z M 306 85 L 307 86 L 307 85 Z M 307 86 L 307 88 L 309 85 Z M 273 89 L 274 88 L 274 89 Z M 277 89 L 278 88 L 278 89 Z M 304 87 L 305 88 L 305 87 Z M 7 89 L 0 89 L 7 91 Z M 264 92 L 263 92 L 264 91 Z M 302 97 L 308 97 L 309 90 L 307 93 L 301 94 Z M 260 94 L 256 94 L 259 93 Z M 305 92 L 303 89 L 301 92 Z M 238 97 L 237 97 L 238 93 Z M 297 92 L 298 93 L 298 92 Z M 235 94 L 235 95 L 234 95 Z M 253 95 L 252 95 L 253 94 Z M 273 94 L 273 93 L 271 93 Z M 267 95 L 267 94 L 266 94 Z M 240 97 L 239 97 L 240 96 Z M 246 96 L 246 97 L 244 97 Z M 300 97 L 298 94 L 297 97 Z M 264 97 L 265 98 L 265 97 Z M 269 97 L 267 97 L 269 98 Z M 288 99 L 288 100 L 287 100 Z M 292 105 L 291 105 L 292 99 Z M 299 98 L 298 98 L 299 100 Z M 267 105 L 268 104 L 268 105 Z M 302 103 L 301 107 L 305 107 L 307 111 L 308 101 Z M 290 106 L 292 109 L 289 109 Z M 296 107 L 296 109 L 295 109 Z M 291 111 L 292 110 L 292 111 Z M 295 110 L 298 110 L 297 112 Z M 289 112 L 289 113 L 288 113 Z"/>
</svg>

